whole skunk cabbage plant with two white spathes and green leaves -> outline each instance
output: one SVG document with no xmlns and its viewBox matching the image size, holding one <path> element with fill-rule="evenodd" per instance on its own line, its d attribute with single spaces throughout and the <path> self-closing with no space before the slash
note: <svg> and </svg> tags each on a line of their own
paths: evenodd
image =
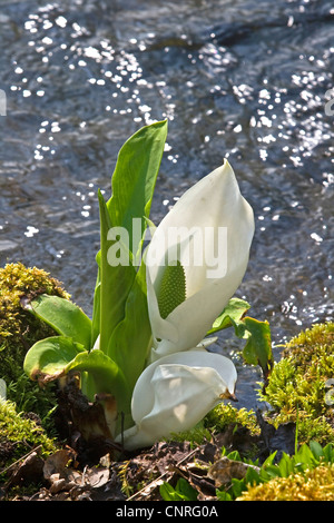
<svg viewBox="0 0 334 523">
<path fill-rule="evenodd" d="M 119 151 L 111 197 L 98 193 L 92 317 L 56 296 L 26 304 L 57 333 L 28 351 L 27 374 L 46 384 L 76 373 L 90 402 L 111 397 L 110 437 L 126 448 L 191 428 L 219 401 L 234 398 L 233 362 L 206 348 L 218 330 L 234 327 L 246 339 L 246 363 L 259 364 L 265 375 L 272 364 L 268 324 L 246 317 L 249 305 L 233 297 L 254 218 L 229 164 L 188 189 L 153 227 L 166 137 L 167 121 L 139 129 Z"/>
</svg>

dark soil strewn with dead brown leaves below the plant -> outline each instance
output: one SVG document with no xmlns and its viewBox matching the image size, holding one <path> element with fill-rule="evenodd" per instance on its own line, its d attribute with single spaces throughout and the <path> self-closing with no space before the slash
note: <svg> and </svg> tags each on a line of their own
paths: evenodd
<svg viewBox="0 0 334 523">
<path fill-rule="evenodd" d="M 258 436 L 230 425 L 200 445 L 157 442 L 131 454 L 102 435 L 86 441 L 76 427 L 47 458 L 36 447 L 8 467 L 0 501 L 160 501 L 160 485 L 175 486 L 180 477 L 196 490 L 197 501 L 216 501 L 217 487 L 228 489 L 232 477 L 242 478 L 252 466 L 222 457 L 222 446 L 240 455 L 257 448 L 259 462 L 275 450 L 277 456 L 294 451 L 293 424 L 275 430 L 259 412 L 257 417 Z M 0 444 L 2 457 L 11 451 L 8 442 Z"/>
</svg>

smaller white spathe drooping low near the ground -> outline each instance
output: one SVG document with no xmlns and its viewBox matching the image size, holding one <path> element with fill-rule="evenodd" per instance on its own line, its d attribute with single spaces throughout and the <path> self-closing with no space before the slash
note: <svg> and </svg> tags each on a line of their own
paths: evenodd
<svg viewBox="0 0 334 523">
<path fill-rule="evenodd" d="M 230 359 L 205 349 L 161 357 L 139 376 L 131 404 L 136 425 L 116 441 L 135 450 L 193 428 L 223 398 L 233 397 L 236 378 Z"/>
</svg>

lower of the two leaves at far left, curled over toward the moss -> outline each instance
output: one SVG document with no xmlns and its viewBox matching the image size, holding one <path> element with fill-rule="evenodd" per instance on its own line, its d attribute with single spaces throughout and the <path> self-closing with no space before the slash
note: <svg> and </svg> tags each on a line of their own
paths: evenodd
<svg viewBox="0 0 334 523">
<path fill-rule="evenodd" d="M 52 336 L 37 342 L 26 354 L 23 368 L 31 379 L 48 382 L 57 378 L 78 354 L 82 345 L 67 336 Z"/>
</svg>

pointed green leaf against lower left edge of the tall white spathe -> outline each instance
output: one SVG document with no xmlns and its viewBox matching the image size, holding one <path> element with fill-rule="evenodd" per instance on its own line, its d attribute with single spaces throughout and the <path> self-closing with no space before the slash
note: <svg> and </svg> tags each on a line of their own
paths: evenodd
<svg viewBox="0 0 334 523">
<path fill-rule="evenodd" d="M 151 341 L 145 274 L 143 262 L 127 297 L 125 317 L 116 326 L 108 346 L 108 356 L 122 368 L 131 387 L 144 371 Z"/>
</svg>

